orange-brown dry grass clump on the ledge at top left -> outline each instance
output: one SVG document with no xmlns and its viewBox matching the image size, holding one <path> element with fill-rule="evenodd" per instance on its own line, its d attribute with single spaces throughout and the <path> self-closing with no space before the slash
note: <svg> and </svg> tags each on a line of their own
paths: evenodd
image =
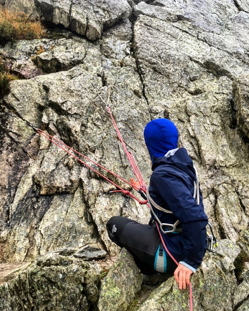
<svg viewBox="0 0 249 311">
<path fill-rule="evenodd" d="M 0 8 L 0 40 L 40 39 L 46 32 L 40 21 L 31 21 L 23 12 Z"/>
</svg>

